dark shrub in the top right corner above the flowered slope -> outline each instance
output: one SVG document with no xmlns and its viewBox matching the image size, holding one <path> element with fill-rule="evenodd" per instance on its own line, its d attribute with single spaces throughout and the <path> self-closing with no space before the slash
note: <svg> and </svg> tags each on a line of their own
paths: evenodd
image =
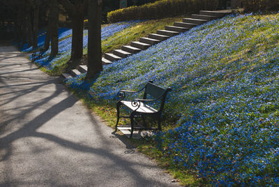
<svg viewBox="0 0 279 187">
<path fill-rule="evenodd" d="M 242 3 L 246 12 L 279 10 L 279 1 L 274 0 L 243 0 Z"/>
</svg>

